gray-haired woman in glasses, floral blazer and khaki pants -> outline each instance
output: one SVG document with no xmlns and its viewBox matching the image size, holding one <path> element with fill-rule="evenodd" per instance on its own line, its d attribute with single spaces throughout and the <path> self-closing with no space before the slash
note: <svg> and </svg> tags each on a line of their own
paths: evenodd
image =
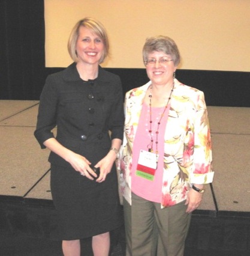
<svg viewBox="0 0 250 256">
<path fill-rule="evenodd" d="M 127 255 L 181 256 L 191 212 L 213 180 L 206 103 L 203 92 L 175 78 L 180 54 L 171 38 L 148 38 L 143 61 L 150 81 L 125 96 L 120 167 Z"/>
</svg>

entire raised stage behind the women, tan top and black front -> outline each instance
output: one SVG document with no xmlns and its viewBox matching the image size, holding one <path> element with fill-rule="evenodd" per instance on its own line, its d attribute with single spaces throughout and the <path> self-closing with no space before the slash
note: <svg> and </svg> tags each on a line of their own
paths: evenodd
<svg viewBox="0 0 250 256">
<path fill-rule="evenodd" d="M 0 100 L 0 254 L 62 255 L 50 193 L 49 150 L 33 135 L 38 101 Z M 185 256 L 250 255 L 250 108 L 208 106 L 215 177 L 191 218 Z M 93 255 L 82 240 L 82 255 Z M 124 227 L 111 232 L 125 255 Z"/>
</svg>

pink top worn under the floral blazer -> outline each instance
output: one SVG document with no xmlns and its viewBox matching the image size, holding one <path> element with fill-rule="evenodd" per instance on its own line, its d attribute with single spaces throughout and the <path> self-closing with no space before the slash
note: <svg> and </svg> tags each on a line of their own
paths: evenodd
<svg viewBox="0 0 250 256">
<path fill-rule="evenodd" d="M 152 137 L 153 137 L 153 151 L 156 150 L 156 130 L 158 126 L 158 121 L 161 118 L 162 112 L 164 111 L 164 107 L 162 108 L 151 108 L 152 111 Z M 133 157 L 132 157 L 132 173 L 131 173 L 131 186 L 132 192 L 135 195 L 138 195 L 141 198 L 146 200 L 161 203 L 161 190 L 162 190 L 162 175 L 163 175 L 163 156 L 164 156 L 164 133 L 165 127 L 167 125 L 168 112 L 170 109 L 170 105 L 168 104 L 167 109 L 164 112 L 164 115 L 161 119 L 161 124 L 159 124 L 158 130 L 158 166 L 155 171 L 155 177 L 153 181 L 147 180 L 146 178 L 139 177 L 135 175 L 135 171 L 137 168 L 137 162 L 140 150 L 148 150 L 147 145 L 151 144 L 150 142 L 150 107 L 143 103 L 141 109 L 140 120 L 137 127 L 137 132 L 134 138 L 133 145 Z"/>
</svg>

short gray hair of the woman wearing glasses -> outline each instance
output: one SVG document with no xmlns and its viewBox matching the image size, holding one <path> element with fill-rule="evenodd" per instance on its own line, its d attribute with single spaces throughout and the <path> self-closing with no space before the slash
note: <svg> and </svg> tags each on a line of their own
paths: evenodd
<svg viewBox="0 0 250 256">
<path fill-rule="evenodd" d="M 151 52 L 164 52 L 167 55 L 171 55 L 173 58 L 174 66 L 178 66 L 180 63 L 180 53 L 178 47 L 173 39 L 166 37 L 165 35 L 157 35 L 155 37 L 149 37 L 143 46 L 143 62 L 147 62 L 147 56 Z"/>
</svg>

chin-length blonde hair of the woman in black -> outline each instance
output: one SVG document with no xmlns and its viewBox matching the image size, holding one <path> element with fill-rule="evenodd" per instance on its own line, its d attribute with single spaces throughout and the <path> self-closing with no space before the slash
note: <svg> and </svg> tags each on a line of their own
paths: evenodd
<svg viewBox="0 0 250 256">
<path fill-rule="evenodd" d="M 81 26 L 90 29 L 92 32 L 98 35 L 98 37 L 103 40 L 104 43 L 104 52 L 103 56 L 101 57 L 99 63 L 102 63 L 107 56 L 109 56 L 109 38 L 107 37 L 106 29 L 104 28 L 103 24 L 98 20 L 95 20 L 91 17 L 86 17 L 79 22 L 76 23 L 74 28 L 71 31 L 70 38 L 68 39 L 68 52 L 70 53 L 71 58 L 73 61 L 78 62 L 78 56 L 76 52 L 76 42 L 77 38 L 79 37 L 79 29 Z"/>
</svg>

